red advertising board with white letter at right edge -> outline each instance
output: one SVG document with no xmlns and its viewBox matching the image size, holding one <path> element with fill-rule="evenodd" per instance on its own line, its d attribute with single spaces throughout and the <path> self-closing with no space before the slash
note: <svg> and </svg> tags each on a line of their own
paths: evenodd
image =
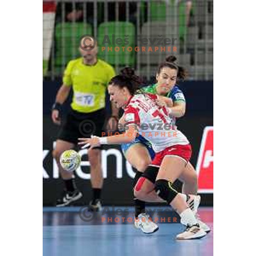
<svg viewBox="0 0 256 256">
<path fill-rule="evenodd" d="M 196 171 L 198 192 L 213 193 L 213 126 L 204 128 Z"/>
</svg>

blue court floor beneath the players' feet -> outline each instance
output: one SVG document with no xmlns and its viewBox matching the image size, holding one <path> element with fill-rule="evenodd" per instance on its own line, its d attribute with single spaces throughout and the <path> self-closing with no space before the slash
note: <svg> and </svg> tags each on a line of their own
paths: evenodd
<svg viewBox="0 0 256 256">
<path fill-rule="evenodd" d="M 184 230 L 175 212 L 168 207 L 147 208 L 153 211 L 151 217 L 159 225 L 159 230 L 149 235 L 134 228 L 133 207 L 106 207 L 103 212 L 94 214 L 87 212 L 85 207 L 44 207 L 43 255 L 213 255 L 212 207 L 201 207 L 198 211 L 212 231 L 203 239 L 189 241 L 175 240 Z"/>
</svg>

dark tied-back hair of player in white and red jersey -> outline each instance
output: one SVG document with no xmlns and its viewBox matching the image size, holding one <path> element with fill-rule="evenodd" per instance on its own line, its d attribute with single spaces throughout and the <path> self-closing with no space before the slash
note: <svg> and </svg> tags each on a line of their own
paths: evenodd
<svg viewBox="0 0 256 256">
<path fill-rule="evenodd" d="M 135 75 L 135 71 L 131 67 L 125 67 L 120 70 L 119 75 L 114 76 L 109 84 L 116 84 L 120 88 L 127 87 L 131 95 L 134 95 L 141 84 L 139 76 Z"/>
</svg>

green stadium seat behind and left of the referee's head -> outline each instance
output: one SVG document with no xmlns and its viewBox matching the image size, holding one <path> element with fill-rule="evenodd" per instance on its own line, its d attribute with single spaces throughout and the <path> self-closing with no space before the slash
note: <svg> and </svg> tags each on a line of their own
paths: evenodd
<svg viewBox="0 0 256 256">
<path fill-rule="evenodd" d="M 79 38 L 92 35 L 92 26 L 87 23 L 58 23 L 55 27 L 55 67 L 64 67 L 79 55 Z"/>
</svg>

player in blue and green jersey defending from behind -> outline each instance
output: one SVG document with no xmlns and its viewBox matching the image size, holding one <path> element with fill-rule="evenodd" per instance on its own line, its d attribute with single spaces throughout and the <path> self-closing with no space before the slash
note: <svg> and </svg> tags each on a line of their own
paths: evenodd
<svg viewBox="0 0 256 256">
<path fill-rule="evenodd" d="M 186 111 L 185 96 L 177 85 L 177 81 L 186 78 L 186 70 L 179 66 L 175 61 L 176 57 L 173 55 L 166 57 L 165 61 L 158 66 L 156 75 L 157 83 L 140 89 L 145 93 L 157 94 L 161 97 L 160 100 L 167 104 L 168 110 L 171 113 L 170 117 L 172 125 L 175 125 L 176 118 L 183 116 Z M 124 124 L 123 117 L 119 120 L 119 123 Z M 151 143 L 141 135 L 136 137 L 131 143 L 122 144 L 121 148 L 126 160 L 128 160 L 128 162 L 136 169 L 136 175 L 133 182 L 134 187 L 139 178 L 143 175 L 145 169 L 151 164 L 155 153 Z M 197 195 L 198 177 L 190 162 L 186 165 L 179 180 L 183 182 L 182 193 Z M 188 197 L 186 200 L 189 207 L 194 210 L 195 206 L 193 198 Z M 135 198 L 134 204 L 136 218 L 149 218 L 149 215 L 145 213 L 145 201 Z M 200 227 L 208 233 L 210 228 L 200 220 L 198 214 L 197 218 Z M 140 225 L 140 221 L 134 221 L 134 226 L 144 233 L 153 233 L 158 230 L 157 224 L 154 222 L 147 223 L 148 225 Z"/>
</svg>

